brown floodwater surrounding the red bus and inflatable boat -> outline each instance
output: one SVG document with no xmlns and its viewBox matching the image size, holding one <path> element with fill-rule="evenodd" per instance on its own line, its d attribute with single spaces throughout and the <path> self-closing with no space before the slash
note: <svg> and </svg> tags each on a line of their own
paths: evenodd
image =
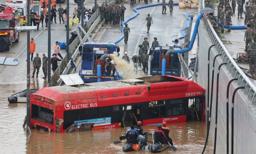
<svg viewBox="0 0 256 154">
<path fill-rule="evenodd" d="M 40 88 L 40 86 L 39 86 Z M 32 129 L 29 144 L 26 145 L 26 130 L 22 121 L 26 116 L 26 104 L 9 104 L 7 98 L 16 92 L 26 89 L 26 85 L 0 85 L 0 153 L 124 153 L 123 143 L 113 144 L 119 136 L 125 135 L 128 128 L 109 128 L 73 133 L 49 133 Z M 202 153 L 206 125 L 203 121 L 169 124 L 170 137 L 178 149 L 171 148 L 161 153 Z M 142 126 L 144 131 L 155 129 L 156 125 Z M 212 142 L 205 153 L 212 153 Z M 129 152 L 139 153 L 139 152 Z M 140 153 L 148 153 L 143 151 Z"/>
</svg>

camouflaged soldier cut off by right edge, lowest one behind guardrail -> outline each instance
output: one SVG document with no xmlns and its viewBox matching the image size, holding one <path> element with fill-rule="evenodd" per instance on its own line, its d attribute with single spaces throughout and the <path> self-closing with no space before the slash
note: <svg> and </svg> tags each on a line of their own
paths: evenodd
<svg viewBox="0 0 256 154">
<path fill-rule="evenodd" d="M 250 74 L 252 77 L 256 75 L 256 43 L 253 42 L 251 47 L 248 49 L 249 52 L 249 67 L 250 67 Z M 248 53 L 247 52 L 247 53 Z"/>
</svg>

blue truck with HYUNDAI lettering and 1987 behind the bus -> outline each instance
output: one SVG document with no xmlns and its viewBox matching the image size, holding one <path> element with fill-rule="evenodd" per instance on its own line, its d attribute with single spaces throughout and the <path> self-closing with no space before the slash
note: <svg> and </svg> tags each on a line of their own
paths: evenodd
<svg viewBox="0 0 256 154">
<path fill-rule="evenodd" d="M 156 45 L 152 47 L 152 57 L 150 61 L 150 75 L 161 75 L 162 73 L 162 56 L 165 55 L 165 53 L 168 50 L 174 50 L 174 48 L 181 48 L 180 46 L 161 46 L 161 45 Z M 166 55 L 168 56 L 168 55 Z M 167 58 L 166 62 L 166 75 L 173 75 L 173 76 L 180 76 L 181 71 L 180 71 L 180 62 L 179 62 L 179 57 L 178 54 L 170 54 L 169 58 Z"/>
</svg>

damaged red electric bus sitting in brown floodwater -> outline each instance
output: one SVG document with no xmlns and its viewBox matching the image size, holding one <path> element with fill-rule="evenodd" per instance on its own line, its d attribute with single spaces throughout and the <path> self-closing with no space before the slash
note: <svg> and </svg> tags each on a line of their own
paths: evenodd
<svg viewBox="0 0 256 154">
<path fill-rule="evenodd" d="M 74 123 L 93 129 L 204 120 L 205 90 L 191 80 L 155 75 L 130 80 L 44 87 L 31 94 L 31 127 L 66 132 Z"/>
</svg>

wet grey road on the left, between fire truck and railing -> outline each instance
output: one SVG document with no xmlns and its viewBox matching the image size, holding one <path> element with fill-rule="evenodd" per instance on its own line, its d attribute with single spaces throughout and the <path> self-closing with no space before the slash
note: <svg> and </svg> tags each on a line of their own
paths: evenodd
<svg viewBox="0 0 256 154">
<path fill-rule="evenodd" d="M 4 2 L 4 0 L 0 0 L 0 2 Z M 98 1 L 99 5 L 103 2 Z M 30 8 L 32 8 L 33 5 L 39 4 L 38 2 L 33 3 Z M 84 2 L 85 7 L 92 9 L 92 6 L 94 6 L 94 0 L 87 0 Z M 57 4 L 57 7 L 58 8 Z M 67 3 L 61 4 L 62 8 L 67 7 Z M 77 4 L 74 3 L 73 0 L 70 0 L 70 14 L 73 17 L 73 11 L 74 8 L 77 8 Z M 57 24 L 51 24 L 51 55 L 54 53 L 53 45 L 56 41 L 58 42 L 66 42 L 66 30 L 64 24 L 59 24 L 59 18 L 57 16 L 56 18 Z M 42 58 L 42 54 L 46 53 L 46 56 L 48 56 L 48 28 L 39 25 L 39 31 L 30 31 L 30 37 L 34 38 L 34 42 L 36 43 L 36 50 L 35 53 L 39 53 L 39 57 Z M 70 35 L 71 37 L 71 35 Z M 34 53 L 34 56 L 35 56 Z M 61 49 L 61 55 L 64 57 L 66 53 L 66 50 Z M 51 56 L 50 55 L 50 56 Z M 27 83 L 27 32 L 22 31 L 20 35 L 20 40 L 18 43 L 13 43 L 10 51 L 0 52 L 0 57 L 12 57 L 12 58 L 19 58 L 20 63 L 18 66 L 1 66 L 0 65 L 0 84 L 26 84 Z M 31 62 L 31 76 L 32 76 L 32 62 Z M 52 72 L 53 73 L 53 72 Z M 47 81 L 42 79 L 44 77 L 43 71 L 40 68 L 38 78 L 31 78 L 31 88 L 41 88 L 47 86 Z"/>
</svg>

